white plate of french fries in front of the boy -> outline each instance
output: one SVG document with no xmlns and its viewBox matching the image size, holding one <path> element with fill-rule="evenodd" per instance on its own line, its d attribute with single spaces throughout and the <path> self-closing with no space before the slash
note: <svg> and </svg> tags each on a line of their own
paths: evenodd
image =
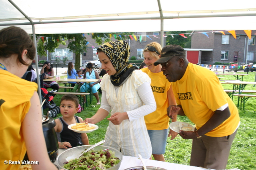
<svg viewBox="0 0 256 170">
<path fill-rule="evenodd" d="M 88 123 L 73 123 L 71 125 L 68 125 L 68 129 L 77 132 L 77 133 L 90 133 L 92 131 L 95 131 L 99 127 L 97 125 Z"/>
</svg>

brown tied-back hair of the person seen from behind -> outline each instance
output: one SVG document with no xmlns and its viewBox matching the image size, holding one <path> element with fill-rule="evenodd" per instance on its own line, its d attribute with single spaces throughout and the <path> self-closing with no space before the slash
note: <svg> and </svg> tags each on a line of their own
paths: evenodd
<svg viewBox="0 0 256 170">
<path fill-rule="evenodd" d="M 30 65 L 22 59 L 22 51 L 28 50 L 26 56 L 33 60 L 36 56 L 36 48 L 30 35 L 20 27 L 7 27 L 0 30 L 0 57 L 9 58 L 12 54 L 18 54 L 18 61 L 23 65 Z"/>
</svg>

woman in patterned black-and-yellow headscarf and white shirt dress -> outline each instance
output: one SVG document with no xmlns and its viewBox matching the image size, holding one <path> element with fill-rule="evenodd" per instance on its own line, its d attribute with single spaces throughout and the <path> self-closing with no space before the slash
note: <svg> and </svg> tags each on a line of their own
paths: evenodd
<svg viewBox="0 0 256 170">
<path fill-rule="evenodd" d="M 108 42 L 97 49 L 102 69 L 100 109 L 84 121 L 96 124 L 110 113 L 104 146 L 120 150 L 123 155 L 149 159 L 152 147 L 144 115 L 156 110 L 150 78 L 128 63 L 130 47 L 125 41 Z M 111 110 L 111 112 L 110 112 Z"/>
</svg>

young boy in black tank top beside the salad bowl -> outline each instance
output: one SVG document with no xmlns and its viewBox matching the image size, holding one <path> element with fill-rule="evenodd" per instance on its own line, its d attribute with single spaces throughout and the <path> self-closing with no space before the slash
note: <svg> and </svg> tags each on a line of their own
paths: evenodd
<svg viewBox="0 0 256 170">
<path fill-rule="evenodd" d="M 74 94 L 66 94 L 60 100 L 60 113 L 62 117 L 54 120 L 56 122 L 54 129 L 57 133 L 60 149 L 89 145 L 86 133 L 76 133 L 68 129 L 68 125 L 83 121 L 81 117 L 75 116 L 79 109 L 78 103 L 79 100 Z"/>
</svg>

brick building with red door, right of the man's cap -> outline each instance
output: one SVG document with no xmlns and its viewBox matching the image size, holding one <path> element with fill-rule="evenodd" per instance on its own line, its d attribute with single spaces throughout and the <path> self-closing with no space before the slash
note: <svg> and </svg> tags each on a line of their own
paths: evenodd
<svg viewBox="0 0 256 170">
<path fill-rule="evenodd" d="M 206 32 L 208 36 L 202 32 Z M 256 62 L 256 30 L 252 30 L 251 39 L 248 39 L 243 30 L 235 32 L 236 39 L 228 31 L 224 31 L 225 35 L 215 31 L 193 31 L 191 49 L 186 49 L 188 60 L 194 64 Z"/>
</svg>

